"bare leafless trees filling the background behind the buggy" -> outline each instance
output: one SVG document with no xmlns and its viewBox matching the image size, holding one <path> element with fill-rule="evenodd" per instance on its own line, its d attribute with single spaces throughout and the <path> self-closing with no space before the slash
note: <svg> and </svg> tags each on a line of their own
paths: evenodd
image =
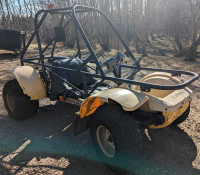
<svg viewBox="0 0 200 175">
<path fill-rule="evenodd" d="M 200 45 L 200 0 L 0 0 L 0 28 L 33 31 L 33 18 L 48 4 L 66 7 L 87 5 L 104 11 L 129 45 L 147 56 L 147 47 L 156 36 L 169 38 L 176 55 L 195 59 Z M 109 32 L 106 22 L 95 13 L 78 15 L 93 42 L 103 49 L 121 47 Z M 49 21 L 47 23 L 51 22 Z M 75 38 L 69 29 L 66 46 L 74 47 Z M 42 27 L 42 37 L 48 41 L 52 32 Z"/>
</svg>

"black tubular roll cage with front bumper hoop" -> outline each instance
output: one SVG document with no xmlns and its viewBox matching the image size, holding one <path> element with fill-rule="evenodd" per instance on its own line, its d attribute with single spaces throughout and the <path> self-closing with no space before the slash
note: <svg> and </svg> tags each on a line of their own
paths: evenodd
<svg viewBox="0 0 200 175">
<path fill-rule="evenodd" d="M 121 64 L 120 67 L 119 67 L 119 74 L 117 76 L 115 76 L 115 77 L 107 76 L 104 73 L 104 71 L 102 69 L 102 66 L 101 66 L 100 62 L 98 61 L 97 56 L 96 56 L 94 50 L 92 49 L 92 46 L 91 46 L 91 44 L 90 44 L 90 42 L 89 42 L 89 40 L 88 40 L 88 38 L 87 38 L 82 26 L 81 26 L 81 24 L 80 24 L 80 22 L 79 22 L 79 20 L 77 18 L 77 14 L 79 14 L 79 13 L 88 13 L 88 12 L 99 13 L 101 16 L 103 16 L 103 18 L 110 25 L 111 29 L 113 30 L 113 32 L 116 34 L 116 36 L 121 41 L 121 43 L 124 46 L 124 48 L 126 49 L 125 54 L 128 57 L 131 57 L 131 59 L 134 61 L 135 65 Z M 45 48 L 42 48 L 42 46 L 41 46 L 39 28 L 41 27 L 44 19 L 47 17 L 47 14 L 60 14 L 61 15 L 61 20 L 60 20 L 59 26 L 66 27 L 71 21 L 74 22 L 75 32 L 76 32 L 76 39 L 77 39 L 77 48 L 78 48 L 77 56 L 79 56 L 79 58 L 81 58 L 81 51 L 80 51 L 80 46 L 79 46 L 78 31 L 80 32 L 80 34 L 81 34 L 81 36 L 82 36 L 82 38 L 83 38 L 88 50 L 89 50 L 90 56 L 87 59 L 85 59 L 83 61 L 83 63 L 77 69 L 69 69 L 69 68 L 57 67 L 57 66 L 46 64 L 44 62 L 45 59 L 50 58 L 50 57 L 45 57 L 44 56 L 44 52 L 50 47 L 50 45 L 53 44 L 52 53 L 51 53 L 51 57 L 53 57 L 54 48 L 55 48 L 55 45 L 56 45 L 56 38 L 53 37 L 51 39 L 51 41 L 46 45 Z M 65 15 L 70 17 L 70 19 L 63 25 L 64 16 Z M 41 16 L 40 20 L 39 20 L 39 16 Z M 71 84 L 67 80 L 65 80 L 62 77 L 60 77 L 59 75 L 57 75 L 57 77 L 60 78 L 62 81 L 65 81 L 66 83 L 68 83 L 71 87 L 73 87 L 74 89 L 76 89 L 80 93 L 82 93 L 85 97 L 90 96 L 91 93 L 97 87 L 99 87 L 105 80 L 110 80 L 110 81 L 113 81 L 113 82 L 118 83 L 118 84 L 127 83 L 127 84 L 132 84 L 132 85 L 139 85 L 141 91 L 149 92 L 151 90 L 151 88 L 153 88 L 153 89 L 161 89 L 161 90 L 182 89 L 182 88 L 186 87 L 187 85 L 191 84 L 192 82 L 194 82 L 199 77 L 198 74 L 196 74 L 194 72 L 190 72 L 190 71 L 142 67 L 140 65 L 139 61 L 134 57 L 133 53 L 131 52 L 131 50 L 129 49 L 129 47 L 125 43 L 125 41 L 122 39 L 122 37 L 120 36 L 120 34 L 116 30 L 116 28 L 114 27 L 112 22 L 110 21 L 110 19 L 102 11 L 100 11 L 99 9 L 96 9 L 96 8 L 77 5 L 77 6 L 71 6 L 71 7 L 65 7 L 65 8 L 40 10 L 35 15 L 34 25 L 35 25 L 35 31 L 33 32 L 32 36 L 31 36 L 30 40 L 28 41 L 27 45 L 25 46 L 25 48 L 21 51 L 20 61 L 21 61 L 21 65 L 22 66 L 24 65 L 24 63 L 34 64 L 37 67 L 41 66 L 42 73 L 43 73 L 43 78 L 44 78 L 44 81 L 45 81 L 46 85 L 48 85 L 47 71 L 51 70 L 52 68 L 60 69 L 62 71 L 67 71 L 67 72 L 76 72 L 76 73 L 79 73 L 80 75 L 82 75 L 83 76 L 84 87 L 85 87 L 84 92 L 82 90 L 80 90 L 79 88 L 75 87 L 73 84 Z M 28 47 L 30 46 L 30 44 L 33 41 L 35 36 L 37 38 L 37 43 L 38 43 L 39 58 L 24 58 L 24 55 L 25 55 Z M 35 61 L 37 61 L 37 62 L 35 62 Z M 89 63 L 89 62 L 93 62 L 93 63 L 96 64 L 96 70 L 97 70 L 96 73 L 89 73 L 89 72 L 82 71 L 82 68 L 85 67 L 87 65 L 87 63 Z M 189 76 L 192 76 L 192 77 L 189 80 L 187 80 L 184 83 L 179 84 L 179 85 L 158 85 L 158 84 L 145 83 L 145 82 L 141 82 L 141 81 L 135 81 L 135 80 L 132 80 L 130 78 L 126 78 L 126 79 L 125 78 L 121 78 L 121 69 L 122 68 L 128 68 L 128 69 L 132 69 L 133 70 L 132 75 L 130 77 L 133 77 L 135 74 L 137 74 L 141 70 L 167 72 L 167 73 L 171 73 L 173 76 L 180 76 L 181 74 L 184 74 L 184 75 L 189 75 Z M 94 78 L 101 79 L 101 81 L 98 81 L 95 84 L 95 86 L 92 87 L 92 90 L 90 91 L 90 93 L 88 93 L 88 89 L 87 89 L 87 82 L 86 82 L 87 80 L 85 78 L 86 76 L 91 76 L 91 77 L 94 77 Z M 48 86 L 46 86 L 46 88 L 48 90 Z"/>
</svg>

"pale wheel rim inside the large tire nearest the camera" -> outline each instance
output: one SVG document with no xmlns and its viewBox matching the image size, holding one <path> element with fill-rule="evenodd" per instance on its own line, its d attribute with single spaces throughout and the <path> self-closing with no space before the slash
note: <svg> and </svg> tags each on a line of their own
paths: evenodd
<svg viewBox="0 0 200 175">
<path fill-rule="evenodd" d="M 103 125 L 99 126 L 96 131 L 97 141 L 101 151 L 109 158 L 113 158 L 116 152 L 114 138 L 111 132 Z"/>
</svg>

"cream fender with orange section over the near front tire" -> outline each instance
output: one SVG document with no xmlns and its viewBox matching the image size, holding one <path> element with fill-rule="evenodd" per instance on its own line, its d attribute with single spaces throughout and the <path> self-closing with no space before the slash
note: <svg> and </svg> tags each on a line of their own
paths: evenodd
<svg viewBox="0 0 200 175">
<path fill-rule="evenodd" d="M 113 88 L 99 91 L 85 99 L 80 109 L 80 117 L 84 118 L 95 112 L 95 110 L 108 103 L 109 99 L 119 103 L 125 111 L 134 111 L 142 106 L 148 97 L 140 92 L 124 88 Z"/>
</svg>

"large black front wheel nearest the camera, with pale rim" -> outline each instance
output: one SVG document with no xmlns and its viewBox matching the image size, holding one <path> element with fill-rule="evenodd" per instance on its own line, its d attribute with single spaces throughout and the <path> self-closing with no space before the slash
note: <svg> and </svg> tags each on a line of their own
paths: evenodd
<svg viewBox="0 0 200 175">
<path fill-rule="evenodd" d="M 120 172 L 143 171 L 147 136 L 121 106 L 106 104 L 98 108 L 92 116 L 90 131 L 103 163 Z"/>
</svg>

